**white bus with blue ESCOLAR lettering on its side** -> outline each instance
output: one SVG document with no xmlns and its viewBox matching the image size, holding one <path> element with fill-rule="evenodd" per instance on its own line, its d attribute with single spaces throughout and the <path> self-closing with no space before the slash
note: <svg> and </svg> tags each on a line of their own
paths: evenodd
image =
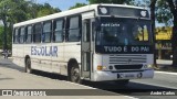
<svg viewBox="0 0 177 99">
<path fill-rule="evenodd" d="M 81 82 L 154 77 L 153 33 L 146 9 L 91 4 L 13 25 L 14 64 Z"/>
</svg>

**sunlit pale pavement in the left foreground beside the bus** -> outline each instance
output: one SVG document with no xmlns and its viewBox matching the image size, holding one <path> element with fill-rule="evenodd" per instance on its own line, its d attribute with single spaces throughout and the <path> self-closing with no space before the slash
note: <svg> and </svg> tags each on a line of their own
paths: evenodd
<svg viewBox="0 0 177 99">
<path fill-rule="evenodd" d="M 116 92 L 94 89 L 88 86 L 66 81 L 66 77 L 64 76 L 59 76 L 59 75 L 48 74 L 48 73 L 42 73 L 42 72 L 37 72 L 37 70 L 33 74 L 27 74 L 24 73 L 24 68 L 12 64 L 10 59 L 2 59 L 2 58 L 0 58 L 0 89 L 6 89 L 6 90 L 22 89 L 23 91 L 29 91 L 27 89 L 31 89 L 32 91 L 34 91 L 34 89 L 40 89 L 40 90 L 52 89 L 52 90 L 46 90 L 46 95 L 48 92 L 49 94 L 52 92 L 51 95 L 55 95 L 55 96 L 62 95 L 59 97 L 54 97 L 58 99 L 59 98 L 62 98 L 62 99 L 63 98 L 64 99 L 97 99 L 97 98 L 131 99 L 129 97 L 126 97 L 126 96 L 119 96 Z M 21 90 L 18 90 L 18 91 L 20 92 Z M 0 95 L 1 94 L 2 92 L 0 90 Z M 18 92 L 15 94 L 18 95 Z M 91 95 L 93 97 L 88 97 Z M 103 95 L 107 95 L 107 96 L 102 97 Z M 1 96 L 0 99 L 1 98 L 4 99 L 4 98 L 10 98 L 10 97 Z M 19 97 L 11 97 L 11 98 L 19 99 Z M 29 98 L 29 97 L 25 97 L 25 98 Z M 51 99 L 53 97 L 38 97 L 38 99 L 40 98 Z M 22 99 L 24 99 L 24 97 Z"/>
</svg>

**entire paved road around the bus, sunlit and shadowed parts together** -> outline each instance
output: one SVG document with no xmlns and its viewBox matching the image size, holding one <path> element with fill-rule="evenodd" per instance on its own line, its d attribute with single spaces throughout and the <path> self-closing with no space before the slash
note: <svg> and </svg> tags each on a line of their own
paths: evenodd
<svg viewBox="0 0 177 99">
<path fill-rule="evenodd" d="M 15 66 L 9 59 L 0 59 L 0 88 L 1 89 L 88 89 L 96 88 L 101 90 L 94 91 L 95 94 L 110 95 L 107 97 L 101 98 L 140 98 L 140 99 L 177 99 L 177 91 L 175 91 L 176 96 L 149 96 L 155 89 L 157 91 L 165 91 L 167 89 L 177 89 L 177 75 L 174 74 L 164 74 L 164 73 L 155 73 L 154 79 L 138 79 L 131 80 L 131 82 L 126 86 L 118 86 L 115 82 L 91 82 L 83 81 L 83 85 L 71 84 L 66 81 L 66 77 L 59 76 L 54 74 L 48 74 L 42 72 L 34 72 L 33 74 L 23 73 L 24 68 Z M 22 80 L 21 80 L 22 79 Z M 86 87 L 85 87 L 86 86 Z M 140 92 L 135 92 L 140 91 Z M 147 91 L 147 92 L 145 92 Z M 149 92 L 150 91 L 150 92 Z M 125 92 L 125 94 L 124 94 Z M 128 92 L 128 94 L 127 94 Z M 173 91 L 174 92 L 174 91 Z M 92 95 L 93 92 L 91 92 Z M 125 95 L 129 97 L 115 96 L 115 95 Z M 137 95 L 138 94 L 138 95 Z M 137 95 L 137 96 L 136 96 Z M 71 97 L 67 97 L 71 98 Z M 73 97 L 79 98 L 79 97 Z M 86 97 L 80 96 L 80 98 L 84 99 Z M 88 98 L 88 97 L 87 97 Z M 98 98 L 98 97 L 92 97 Z"/>
</svg>

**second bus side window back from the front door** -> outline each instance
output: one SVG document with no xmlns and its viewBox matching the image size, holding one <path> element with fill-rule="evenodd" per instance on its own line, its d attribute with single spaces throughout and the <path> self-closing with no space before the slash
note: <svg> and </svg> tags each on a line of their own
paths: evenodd
<svg viewBox="0 0 177 99">
<path fill-rule="evenodd" d="M 63 20 L 55 20 L 53 22 L 53 42 L 63 42 Z"/>
</svg>

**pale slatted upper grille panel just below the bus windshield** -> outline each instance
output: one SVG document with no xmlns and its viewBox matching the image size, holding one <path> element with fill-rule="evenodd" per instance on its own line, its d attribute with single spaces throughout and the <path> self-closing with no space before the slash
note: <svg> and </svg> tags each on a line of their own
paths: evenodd
<svg viewBox="0 0 177 99">
<path fill-rule="evenodd" d="M 137 65 L 146 63 L 146 55 L 111 55 L 110 64 Z"/>
</svg>

